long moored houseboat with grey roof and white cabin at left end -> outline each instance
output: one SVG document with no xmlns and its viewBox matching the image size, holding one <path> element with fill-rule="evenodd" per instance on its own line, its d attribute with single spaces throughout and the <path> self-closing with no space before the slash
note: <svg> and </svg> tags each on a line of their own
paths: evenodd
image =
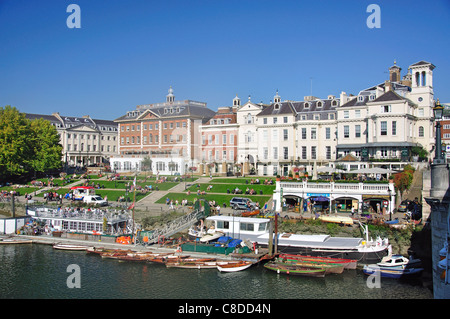
<svg viewBox="0 0 450 319">
<path fill-rule="evenodd" d="M 248 240 L 263 248 L 269 245 L 269 223 L 267 218 L 211 216 L 206 219 L 214 223 L 216 231 L 227 236 Z M 277 252 L 321 257 L 356 259 L 361 264 L 380 262 L 388 253 L 388 240 L 368 240 L 352 237 L 331 237 L 329 235 L 300 235 L 278 233 Z M 272 236 L 275 242 L 275 234 Z"/>
</svg>

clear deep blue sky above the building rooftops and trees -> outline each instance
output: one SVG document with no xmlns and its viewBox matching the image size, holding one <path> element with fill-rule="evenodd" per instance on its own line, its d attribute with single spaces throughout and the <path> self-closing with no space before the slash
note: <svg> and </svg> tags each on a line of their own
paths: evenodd
<svg viewBox="0 0 450 319">
<path fill-rule="evenodd" d="M 69 29 L 71 3 L 81 28 Z M 369 4 L 381 9 L 370 29 Z M 450 1 L 0 0 L 0 106 L 115 119 L 176 99 L 208 107 L 326 98 L 425 60 L 450 102 Z"/>
</svg>

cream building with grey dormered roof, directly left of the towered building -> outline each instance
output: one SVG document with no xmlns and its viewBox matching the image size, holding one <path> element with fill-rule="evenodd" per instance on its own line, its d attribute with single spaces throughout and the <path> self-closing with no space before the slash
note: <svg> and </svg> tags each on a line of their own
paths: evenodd
<svg viewBox="0 0 450 319">
<path fill-rule="evenodd" d="M 339 99 L 332 95 L 282 102 L 277 92 L 274 103 L 257 115 L 262 144 L 258 173 L 288 175 L 293 167 L 331 161 L 338 105 Z"/>
</svg>

